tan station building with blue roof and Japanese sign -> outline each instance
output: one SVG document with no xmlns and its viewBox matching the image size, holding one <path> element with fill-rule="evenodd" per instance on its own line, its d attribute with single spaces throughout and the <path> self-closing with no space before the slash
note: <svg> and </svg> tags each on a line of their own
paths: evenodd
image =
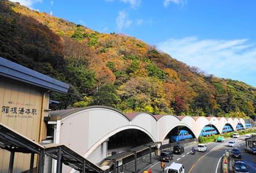
<svg viewBox="0 0 256 173">
<path fill-rule="evenodd" d="M 50 92 L 67 93 L 68 88 L 64 82 L 0 57 L 0 123 L 41 143 L 46 139 Z M 0 145 L 5 147 L 1 141 Z M 17 153 L 13 172 L 28 170 L 29 160 L 30 155 Z M 0 149 L 0 172 L 8 172 L 9 162 L 10 152 Z"/>
</svg>

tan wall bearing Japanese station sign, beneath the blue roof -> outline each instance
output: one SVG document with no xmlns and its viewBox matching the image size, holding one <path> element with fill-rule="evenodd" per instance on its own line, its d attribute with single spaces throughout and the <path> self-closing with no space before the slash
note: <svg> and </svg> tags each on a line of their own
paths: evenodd
<svg viewBox="0 0 256 173">
<path fill-rule="evenodd" d="M 35 142 L 41 142 L 46 138 L 43 115 L 47 114 L 44 110 L 48 106 L 49 93 L 44 94 L 41 88 L 0 76 L 0 122 L 4 125 Z M 9 157 L 10 152 L 0 149 L 0 172 L 8 172 Z M 25 160 L 30 160 L 30 154 L 16 153 L 13 172 L 28 170 L 30 161 Z"/>
</svg>

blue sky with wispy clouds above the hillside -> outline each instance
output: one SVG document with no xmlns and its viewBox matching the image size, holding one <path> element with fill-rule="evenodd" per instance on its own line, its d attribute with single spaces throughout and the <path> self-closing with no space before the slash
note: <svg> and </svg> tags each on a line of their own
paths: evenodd
<svg viewBox="0 0 256 173">
<path fill-rule="evenodd" d="M 206 74 L 256 87 L 255 0 L 12 0 L 104 33 L 124 33 Z"/>
</svg>

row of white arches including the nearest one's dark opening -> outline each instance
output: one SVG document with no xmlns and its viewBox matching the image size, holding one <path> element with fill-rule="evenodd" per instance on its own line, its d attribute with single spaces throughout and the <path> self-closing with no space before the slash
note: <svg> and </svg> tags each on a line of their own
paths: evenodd
<svg viewBox="0 0 256 173">
<path fill-rule="evenodd" d="M 220 134 L 224 126 L 233 130 L 237 125 L 245 127 L 242 118 L 152 115 L 149 112 L 123 114 L 104 106 L 49 114 L 49 123 L 55 125 L 54 143 L 65 144 L 95 163 L 106 157 L 109 149 L 164 141 L 179 130 L 186 130 L 198 138 L 207 126 L 214 127 Z"/>
</svg>

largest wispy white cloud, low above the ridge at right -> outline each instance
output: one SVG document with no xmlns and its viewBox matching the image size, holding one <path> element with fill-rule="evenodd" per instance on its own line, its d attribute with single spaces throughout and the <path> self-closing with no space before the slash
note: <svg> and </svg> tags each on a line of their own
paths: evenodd
<svg viewBox="0 0 256 173">
<path fill-rule="evenodd" d="M 256 45 L 247 39 L 200 40 L 191 36 L 166 40 L 158 48 L 217 77 L 244 81 L 243 78 L 256 74 Z"/>
</svg>

